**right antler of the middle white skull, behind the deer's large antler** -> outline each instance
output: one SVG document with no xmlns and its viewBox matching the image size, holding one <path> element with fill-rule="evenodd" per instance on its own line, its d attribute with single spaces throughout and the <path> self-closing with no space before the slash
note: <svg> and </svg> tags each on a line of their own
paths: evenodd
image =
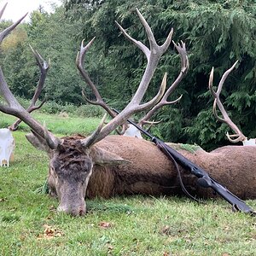
<svg viewBox="0 0 256 256">
<path fill-rule="evenodd" d="M 154 108 L 152 108 L 150 111 L 148 111 L 148 113 L 146 113 L 146 115 L 139 120 L 138 124 L 139 125 L 144 125 L 146 124 L 147 120 L 150 119 L 153 114 L 160 108 L 162 108 L 165 105 L 171 105 L 173 103 L 179 102 L 180 99 L 182 98 L 182 95 L 179 96 L 177 98 L 177 100 L 172 101 L 172 102 L 168 102 L 167 98 L 168 96 L 170 96 L 172 94 L 172 91 L 176 89 L 177 84 L 179 84 L 181 82 L 181 80 L 183 79 L 183 77 L 188 73 L 189 70 L 189 58 L 188 58 L 188 54 L 187 54 L 187 50 L 186 50 L 186 45 L 185 43 L 183 43 L 183 41 L 181 41 L 181 44 L 175 44 L 174 41 L 172 41 L 172 43 L 174 44 L 175 48 L 177 49 L 177 52 L 180 56 L 180 60 L 181 60 L 181 70 L 179 75 L 177 76 L 177 79 L 172 83 L 172 85 L 168 88 L 168 90 L 166 90 L 165 95 L 161 98 L 160 102 L 158 102 Z M 165 74 L 166 75 L 166 74 Z"/>
</svg>

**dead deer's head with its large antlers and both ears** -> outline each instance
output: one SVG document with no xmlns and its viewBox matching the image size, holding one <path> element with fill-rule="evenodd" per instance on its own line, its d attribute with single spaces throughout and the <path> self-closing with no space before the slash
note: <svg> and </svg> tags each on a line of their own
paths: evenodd
<svg viewBox="0 0 256 256">
<path fill-rule="evenodd" d="M 147 21 L 143 18 L 143 15 L 141 15 L 138 9 L 136 11 L 139 20 L 141 20 L 145 28 L 149 41 L 149 48 L 136 39 L 131 38 L 131 36 L 125 32 L 125 29 L 120 26 L 118 22 L 116 22 L 116 24 L 124 34 L 125 38 L 130 40 L 131 43 L 135 44 L 143 51 L 148 64 L 143 73 L 143 78 L 138 85 L 137 91 L 131 98 L 131 102 L 129 102 L 129 104 L 118 115 L 113 113 L 106 103 L 102 101 L 102 97 L 98 93 L 95 84 L 92 83 L 88 73 L 83 67 L 84 55 L 93 43 L 94 38 L 85 46 L 84 41 L 81 44 L 80 51 L 77 56 L 79 72 L 93 90 L 97 104 L 102 105 L 102 107 L 113 116 L 113 119 L 109 121 L 107 125 L 104 125 L 105 116 L 102 119 L 101 124 L 97 127 L 96 131 L 90 135 L 90 137 L 55 137 L 44 125 L 39 124 L 36 119 L 33 119 L 29 111 L 17 102 L 15 96 L 9 90 L 8 84 L 4 79 L 2 69 L 0 68 L 0 92 L 5 99 L 5 102 L 0 102 L 0 110 L 3 113 L 16 116 L 18 119 L 24 121 L 26 125 L 29 125 L 32 133 L 26 135 L 27 140 L 32 143 L 35 148 L 44 150 L 49 154 L 49 189 L 60 201 L 60 206 L 58 207 L 59 211 L 68 212 L 73 215 L 83 215 L 86 212 L 84 196 L 93 166 L 119 165 L 127 163 L 127 161 L 119 157 L 119 155 L 99 148 L 96 143 L 100 142 L 104 137 L 107 137 L 119 125 L 125 123 L 126 119 L 131 117 L 132 114 L 153 108 L 157 102 L 160 102 L 160 99 L 164 95 L 166 89 L 166 75 L 164 76 L 160 90 L 156 96 L 148 102 L 142 102 L 150 80 L 152 79 L 154 71 L 160 61 L 160 57 L 166 52 L 166 49 L 168 49 L 171 44 L 172 30 L 166 38 L 166 42 L 162 45 L 158 45 Z M 1 14 L 2 13 L 3 10 Z M 23 18 L 0 33 L 0 43 Z M 176 47 L 182 50 L 184 45 L 180 48 L 178 45 Z"/>
</svg>

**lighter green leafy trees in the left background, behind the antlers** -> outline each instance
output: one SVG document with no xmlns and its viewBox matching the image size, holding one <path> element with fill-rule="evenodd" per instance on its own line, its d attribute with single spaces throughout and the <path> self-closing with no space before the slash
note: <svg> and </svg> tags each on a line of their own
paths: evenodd
<svg viewBox="0 0 256 256">
<path fill-rule="evenodd" d="M 81 29 L 79 22 L 66 20 L 64 9 L 60 7 L 50 15 L 42 9 L 36 10 L 29 23 L 19 27 L 5 39 L 2 52 L 6 77 L 15 94 L 31 98 L 38 82 L 39 70 L 29 49 L 31 44 L 45 60 L 51 60 L 45 88 L 49 100 L 80 104 L 82 81 L 75 67 L 79 49 L 75 37 Z M 26 37 L 20 33 L 24 30 Z"/>
</svg>

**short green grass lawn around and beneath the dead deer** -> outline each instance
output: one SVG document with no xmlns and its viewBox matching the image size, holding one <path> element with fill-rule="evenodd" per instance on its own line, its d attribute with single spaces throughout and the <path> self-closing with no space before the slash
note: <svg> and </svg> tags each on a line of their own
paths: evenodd
<svg viewBox="0 0 256 256">
<path fill-rule="evenodd" d="M 37 118 L 58 134 L 87 134 L 99 121 Z M 0 123 L 7 119 L 0 115 Z M 120 196 L 87 201 L 83 218 L 55 212 L 57 200 L 35 193 L 47 177 L 47 156 L 25 133 L 14 133 L 15 161 L 0 168 L 0 255 L 255 255 L 255 218 L 231 212 L 222 200 Z"/>
</svg>

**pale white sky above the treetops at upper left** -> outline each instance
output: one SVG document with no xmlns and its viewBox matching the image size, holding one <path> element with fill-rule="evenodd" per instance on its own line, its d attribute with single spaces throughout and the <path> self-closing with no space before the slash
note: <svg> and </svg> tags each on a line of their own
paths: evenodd
<svg viewBox="0 0 256 256">
<path fill-rule="evenodd" d="M 0 9 L 3 5 L 7 4 L 7 7 L 3 13 L 3 20 L 18 20 L 27 12 L 31 13 L 33 10 L 38 9 L 39 5 L 44 7 L 44 11 L 52 12 L 51 3 L 55 3 L 57 6 L 61 5 L 61 0 L 0 0 Z M 26 15 L 26 21 L 29 20 L 29 14 Z"/>
</svg>

